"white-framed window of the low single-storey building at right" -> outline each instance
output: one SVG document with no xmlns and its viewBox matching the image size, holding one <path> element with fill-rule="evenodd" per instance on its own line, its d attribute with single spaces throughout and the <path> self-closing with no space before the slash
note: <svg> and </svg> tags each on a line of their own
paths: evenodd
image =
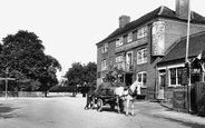
<svg viewBox="0 0 205 128">
<path fill-rule="evenodd" d="M 182 85 L 182 73 L 183 73 L 183 68 L 170 68 L 169 69 L 169 85 L 170 86 L 179 86 Z"/>
</svg>

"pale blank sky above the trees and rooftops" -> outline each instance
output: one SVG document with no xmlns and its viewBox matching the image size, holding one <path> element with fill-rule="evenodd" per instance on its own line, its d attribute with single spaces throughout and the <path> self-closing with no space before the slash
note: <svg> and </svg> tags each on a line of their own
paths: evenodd
<svg viewBox="0 0 205 128">
<path fill-rule="evenodd" d="M 205 17 L 204 0 L 191 8 Z M 0 0 L 0 40 L 19 30 L 35 32 L 46 55 L 62 66 L 58 78 L 74 62 L 97 62 L 96 43 L 118 28 L 121 14 L 130 21 L 160 6 L 175 10 L 176 0 Z"/>
</svg>

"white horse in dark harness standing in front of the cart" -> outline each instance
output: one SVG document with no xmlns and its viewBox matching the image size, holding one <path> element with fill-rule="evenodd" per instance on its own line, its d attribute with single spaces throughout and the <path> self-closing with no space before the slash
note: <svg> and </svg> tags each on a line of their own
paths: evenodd
<svg viewBox="0 0 205 128">
<path fill-rule="evenodd" d="M 125 88 L 125 87 L 116 88 L 114 93 L 127 101 L 126 116 L 129 115 L 129 105 L 130 104 L 131 104 L 131 116 L 135 116 L 135 112 L 134 112 L 135 99 L 136 99 L 137 95 L 140 93 L 140 88 L 139 88 L 137 80 L 128 88 Z"/>
</svg>

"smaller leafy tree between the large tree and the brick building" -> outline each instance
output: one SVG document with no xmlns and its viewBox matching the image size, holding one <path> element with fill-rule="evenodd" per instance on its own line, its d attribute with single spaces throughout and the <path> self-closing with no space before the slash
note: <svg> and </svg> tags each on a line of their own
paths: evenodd
<svg viewBox="0 0 205 128">
<path fill-rule="evenodd" d="M 66 78 L 68 79 L 68 86 L 96 85 L 97 65 L 95 62 L 88 62 L 87 65 L 74 62 L 71 68 L 66 72 Z"/>
</svg>

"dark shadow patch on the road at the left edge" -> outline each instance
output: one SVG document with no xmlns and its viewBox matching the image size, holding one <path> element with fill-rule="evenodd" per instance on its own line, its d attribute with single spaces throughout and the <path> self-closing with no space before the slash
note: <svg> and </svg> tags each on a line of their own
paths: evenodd
<svg viewBox="0 0 205 128">
<path fill-rule="evenodd" d="M 3 104 L 0 104 L 0 119 L 7 119 L 7 118 L 14 118 L 17 117 L 16 114 L 12 111 L 19 109 L 19 108 L 12 108 L 10 106 L 4 106 Z"/>
</svg>

